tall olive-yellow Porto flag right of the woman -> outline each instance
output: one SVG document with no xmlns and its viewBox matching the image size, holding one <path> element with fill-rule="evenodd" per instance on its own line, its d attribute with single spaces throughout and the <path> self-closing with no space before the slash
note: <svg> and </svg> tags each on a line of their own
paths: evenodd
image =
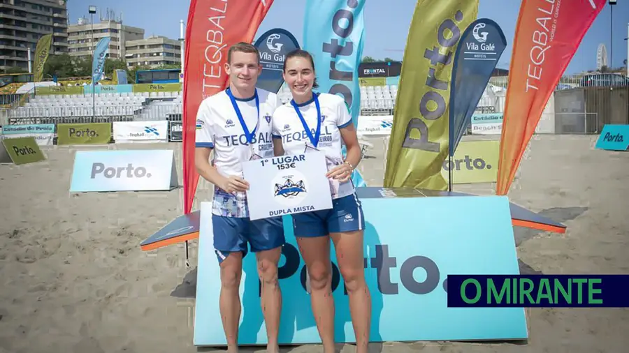
<svg viewBox="0 0 629 353">
<path fill-rule="evenodd" d="M 478 0 L 419 0 L 408 33 L 384 186 L 447 190 L 452 57 Z M 430 20 L 426 20 L 430 19 Z"/>
</svg>

